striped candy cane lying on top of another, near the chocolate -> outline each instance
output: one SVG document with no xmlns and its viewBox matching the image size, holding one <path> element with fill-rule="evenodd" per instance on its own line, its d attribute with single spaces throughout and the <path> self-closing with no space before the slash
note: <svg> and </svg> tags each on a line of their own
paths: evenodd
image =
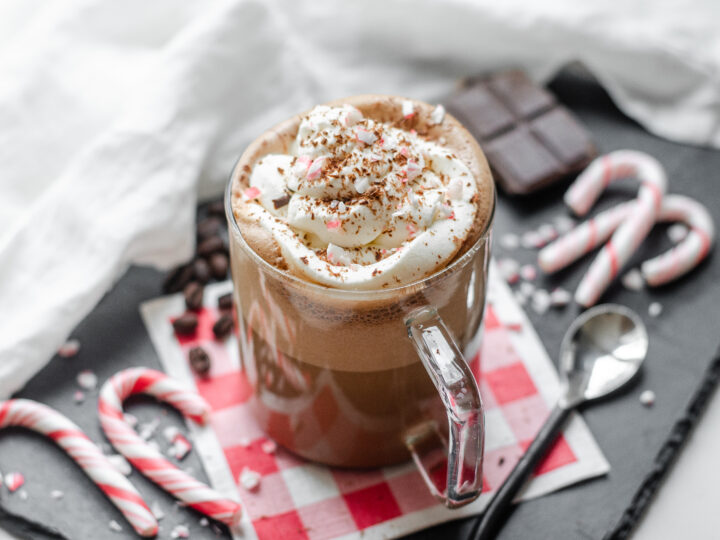
<svg viewBox="0 0 720 540">
<path fill-rule="evenodd" d="M 565 193 L 565 203 L 576 214 L 584 215 L 610 183 L 628 176 L 640 180 L 633 212 L 613 233 L 578 285 L 575 301 L 582 306 L 589 307 L 598 301 L 650 232 L 660 211 L 667 177 L 652 156 L 618 150 L 593 161 Z"/>
</svg>

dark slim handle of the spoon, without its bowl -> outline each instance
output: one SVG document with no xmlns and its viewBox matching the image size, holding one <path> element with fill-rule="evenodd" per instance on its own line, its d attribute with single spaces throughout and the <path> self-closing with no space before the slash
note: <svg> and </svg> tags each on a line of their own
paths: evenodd
<svg viewBox="0 0 720 540">
<path fill-rule="evenodd" d="M 470 538 L 474 540 L 495 538 L 495 535 L 500 531 L 503 523 L 514 509 L 512 501 L 515 495 L 525 485 L 528 477 L 557 439 L 571 410 L 558 405 L 555 406 L 527 451 L 515 465 L 510 476 L 503 482 L 483 515 L 480 516 L 479 523 L 470 534 Z"/>
</svg>

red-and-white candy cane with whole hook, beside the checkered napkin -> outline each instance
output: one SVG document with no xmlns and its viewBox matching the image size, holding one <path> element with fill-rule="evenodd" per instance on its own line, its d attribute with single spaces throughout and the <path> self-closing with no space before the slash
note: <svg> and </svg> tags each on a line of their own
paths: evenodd
<svg viewBox="0 0 720 540">
<path fill-rule="evenodd" d="M 123 418 L 122 402 L 133 394 L 149 394 L 186 417 L 204 424 L 209 406 L 197 393 L 183 388 L 164 373 L 130 368 L 113 375 L 100 390 L 100 424 L 112 445 L 142 474 L 198 512 L 229 526 L 240 522 L 240 504 L 198 482 L 170 463 L 142 440 Z"/>
</svg>

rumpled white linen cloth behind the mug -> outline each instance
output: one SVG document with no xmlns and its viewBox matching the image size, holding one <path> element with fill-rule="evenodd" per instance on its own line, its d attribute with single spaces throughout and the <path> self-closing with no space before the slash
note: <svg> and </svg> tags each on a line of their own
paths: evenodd
<svg viewBox="0 0 720 540">
<path fill-rule="evenodd" d="M 700 0 L 5 0 L 0 397 L 130 264 L 191 255 L 197 197 L 273 123 L 580 60 L 650 131 L 720 147 L 718 20 Z"/>
</svg>

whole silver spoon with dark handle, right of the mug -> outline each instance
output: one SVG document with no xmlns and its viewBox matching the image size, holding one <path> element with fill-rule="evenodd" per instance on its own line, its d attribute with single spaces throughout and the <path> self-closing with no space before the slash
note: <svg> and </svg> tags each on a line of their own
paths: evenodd
<svg viewBox="0 0 720 540">
<path fill-rule="evenodd" d="M 512 501 L 557 439 L 570 413 L 630 381 L 648 349 L 645 325 L 624 306 L 603 304 L 573 321 L 560 346 L 561 397 L 527 452 L 490 501 L 470 538 L 494 538 L 512 511 Z"/>
</svg>

